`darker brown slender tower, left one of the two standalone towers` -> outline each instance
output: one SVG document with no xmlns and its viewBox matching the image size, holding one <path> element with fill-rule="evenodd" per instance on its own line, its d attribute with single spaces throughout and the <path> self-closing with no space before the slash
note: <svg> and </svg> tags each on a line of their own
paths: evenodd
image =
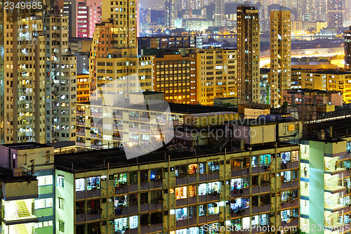
<svg viewBox="0 0 351 234">
<path fill-rule="evenodd" d="M 253 6 L 237 8 L 238 98 L 260 102 L 260 24 Z"/>
</svg>

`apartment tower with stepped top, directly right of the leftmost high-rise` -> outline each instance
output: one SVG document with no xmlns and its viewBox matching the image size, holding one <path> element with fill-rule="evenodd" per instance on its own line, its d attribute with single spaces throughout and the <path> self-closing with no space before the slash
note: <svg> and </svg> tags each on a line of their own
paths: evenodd
<svg viewBox="0 0 351 234">
<path fill-rule="evenodd" d="M 76 139 L 77 58 L 68 52 L 68 17 L 44 18 L 46 141 Z"/>
</svg>

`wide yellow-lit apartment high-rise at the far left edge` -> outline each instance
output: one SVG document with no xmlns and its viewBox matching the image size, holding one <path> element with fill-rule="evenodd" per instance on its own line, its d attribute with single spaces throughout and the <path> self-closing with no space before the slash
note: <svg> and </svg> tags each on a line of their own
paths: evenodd
<svg viewBox="0 0 351 234">
<path fill-rule="evenodd" d="M 46 39 L 42 16 L 17 9 L 0 13 L 1 143 L 46 143 Z"/>
</svg>

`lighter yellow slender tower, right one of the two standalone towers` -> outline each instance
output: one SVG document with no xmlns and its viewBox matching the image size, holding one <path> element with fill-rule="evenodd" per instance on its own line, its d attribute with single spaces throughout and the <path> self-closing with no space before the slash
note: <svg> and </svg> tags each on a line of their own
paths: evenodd
<svg viewBox="0 0 351 234">
<path fill-rule="evenodd" d="M 283 90 L 291 89 L 291 12 L 270 12 L 270 100 L 283 104 Z"/>
</svg>

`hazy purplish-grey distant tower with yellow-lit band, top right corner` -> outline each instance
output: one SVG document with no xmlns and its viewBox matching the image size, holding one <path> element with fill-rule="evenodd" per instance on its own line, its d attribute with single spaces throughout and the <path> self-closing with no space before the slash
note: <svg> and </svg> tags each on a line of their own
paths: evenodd
<svg viewBox="0 0 351 234">
<path fill-rule="evenodd" d="M 331 29 L 340 29 L 343 27 L 343 13 L 345 0 L 328 1 L 328 27 Z"/>
</svg>

